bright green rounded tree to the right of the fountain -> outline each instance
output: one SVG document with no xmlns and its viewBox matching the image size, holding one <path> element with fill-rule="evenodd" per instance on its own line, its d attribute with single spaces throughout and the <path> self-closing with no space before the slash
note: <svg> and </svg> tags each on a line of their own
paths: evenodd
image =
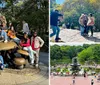
<svg viewBox="0 0 100 85">
<path fill-rule="evenodd" d="M 78 54 L 80 63 L 100 64 L 100 45 L 92 45 Z"/>
</svg>

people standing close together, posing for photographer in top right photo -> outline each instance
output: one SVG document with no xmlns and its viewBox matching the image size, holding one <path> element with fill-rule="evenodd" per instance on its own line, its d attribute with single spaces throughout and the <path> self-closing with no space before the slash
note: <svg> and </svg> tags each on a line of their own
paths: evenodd
<svg viewBox="0 0 100 85">
<path fill-rule="evenodd" d="M 93 17 L 92 13 L 90 13 L 88 16 L 86 14 L 81 14 L 79 24 L 82 36 L 88 36 L 89 30 L 91 31 L 91 36 L 93 36 L 95 18 Z"/>
</svg>

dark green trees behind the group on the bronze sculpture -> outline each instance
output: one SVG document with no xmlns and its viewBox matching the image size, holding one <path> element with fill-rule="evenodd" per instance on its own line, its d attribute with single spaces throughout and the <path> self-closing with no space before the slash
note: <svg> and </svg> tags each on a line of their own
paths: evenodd
<svg viewBox="0 0 100 85">
<path fill-rule="evenodd" d="M 49 2 L 48 0 L 24 0 L 16 3 L 16 0 L 6 0 L 5 8 L 1 9 L 7 19 L 7 25 L 12 22 L 17 32 L 22 30 L 22 21 L 29 24 L 31 32 L 36 30 L 38 35 L 45 41 L 48 49 L 48 23 Z M 40 2 L 38 4 L 38 2 Z M 40 8 L 38 7 L 40 5 Z"/>
</svg>

